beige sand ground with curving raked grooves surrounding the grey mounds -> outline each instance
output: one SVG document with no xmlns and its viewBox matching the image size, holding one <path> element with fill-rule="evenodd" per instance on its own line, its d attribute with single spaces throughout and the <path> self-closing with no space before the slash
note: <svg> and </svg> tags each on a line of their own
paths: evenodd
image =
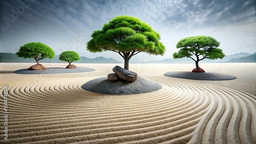
<svg viewBox="0 0 256 144">
<path fill-rule="evenodd" d="M 236 76 L 228 81 L 165 77 L 194 64 L 130 64 L 162 85 L 144 94 L 110 95 L 83 90 L 115 65 L 76 64 L 86 73 L 22 75 L 32 63 L 0 63 L 0 88 L 8 85 L 8 140 L 4 116 L 0 143 L 256 143 L 256 63 L 200 64 Z M 44 63 L 65 67 L 64 63 Z M 4 96 L 1 94 L 4 115 Z"/>
</svg>

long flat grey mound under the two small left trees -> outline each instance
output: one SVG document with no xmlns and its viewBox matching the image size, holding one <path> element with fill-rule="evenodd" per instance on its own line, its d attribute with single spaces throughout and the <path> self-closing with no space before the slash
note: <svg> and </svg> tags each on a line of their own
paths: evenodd
<svg viewBox="0 0 256 144">
<path fill-rule="evenodd" d="M 63 68 L 63 67 L 49 67 L 46 70 L 28 70 L 28 68 L 18 69 L 14 71 L 15 74 L 62 74 L 62 73 L 83 73 L 94 71 L 93 68 L 77 67 L 77 68 Z"/>
</svg>

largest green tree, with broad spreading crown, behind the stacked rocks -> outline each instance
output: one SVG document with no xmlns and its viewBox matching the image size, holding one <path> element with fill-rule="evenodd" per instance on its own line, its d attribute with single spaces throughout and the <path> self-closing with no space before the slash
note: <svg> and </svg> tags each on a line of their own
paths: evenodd
<svg viewBox="0 0 256 144">
<path fill-rule="evenodd" d="M 118 16 L 106 23 L 102 30 L 94 31 L 87 42 L 92 53 L 112 51 L 124 59 L 124 68 L 129 70 L 129 60 L 140 52 L 163 55 L 165 46 L 160 34 L 139 18 Z"/>
</svg>

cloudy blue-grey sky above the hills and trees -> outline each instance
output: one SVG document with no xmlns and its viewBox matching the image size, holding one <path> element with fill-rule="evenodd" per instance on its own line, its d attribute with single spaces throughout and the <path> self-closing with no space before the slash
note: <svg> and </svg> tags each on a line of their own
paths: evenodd
<svg viewBox="0 0 256 144">
<path fill-rule="evenodd" d="M 119 15 L 145 21 L 160 33 L 166 46 L 164 56 L 140 53 L 131 62 L 171 58 L 180 39 L 198 35 L 216 38 L 226 55 L 256 52 L 255 0 L 2 0 L 0 7 L 0 52 L 16 53 L 20 46 L 40 41 L 56 54 L 75 51 L 80 56 L 122 62 L 114 52 L 86 50 L 93 31 Z"/>
</svg>

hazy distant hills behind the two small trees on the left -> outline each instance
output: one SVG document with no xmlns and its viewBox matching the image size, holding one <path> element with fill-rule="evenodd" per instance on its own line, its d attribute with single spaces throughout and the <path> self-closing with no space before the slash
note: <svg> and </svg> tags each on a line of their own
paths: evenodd
<svg viewBox="0 0 256 144">
<path fill-rule="evenodd" d="M 80 57 L 79 61 L 75 61 L 73 63 L 120 63 L 119 61 L 113 58 L 104 58 L 104 57 L 96 57 L 94 59 L 90 59 L 87 57 Z M 8 63 L 8 62 L 15 62 L 15 63 L 34 63 L 34 59 L 25 59 L 20 58 L 16 54 L 12 53 L 0 53 L 0 62 Z M 65 63 L 65 61 L 59 60 L 59 55 L 56 55 L 53 59 L 42 59 L 39 60 L 40 63 Z"/>
</svg>

